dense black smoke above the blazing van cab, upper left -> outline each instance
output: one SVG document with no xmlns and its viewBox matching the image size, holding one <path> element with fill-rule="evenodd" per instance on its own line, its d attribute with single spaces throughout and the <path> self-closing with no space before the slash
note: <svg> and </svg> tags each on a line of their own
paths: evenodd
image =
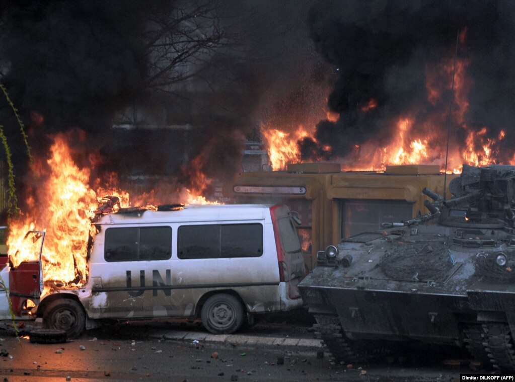
<svg viewBox="0 0 515 382">
<path fill-rule="evenodd" d="M 147 73 L 143 10 L 135 0 L 0 5 L 0 80 L 27 125 L 36 155 L 46 154 L 50 135 L 80 128 L 85 138 L 79 134 L 82 139 L 72 144 L 85 161 L 108 140 L 116 110 L 141 96 Z M 20 174 L 28 169 L 19 127 L 3 99 L 0 107 L 23 188 Z"/>
</svg>

